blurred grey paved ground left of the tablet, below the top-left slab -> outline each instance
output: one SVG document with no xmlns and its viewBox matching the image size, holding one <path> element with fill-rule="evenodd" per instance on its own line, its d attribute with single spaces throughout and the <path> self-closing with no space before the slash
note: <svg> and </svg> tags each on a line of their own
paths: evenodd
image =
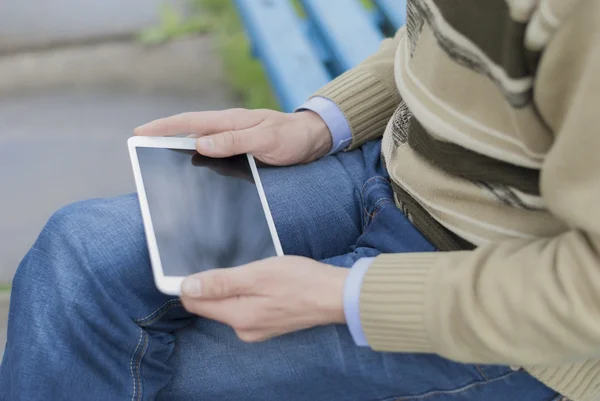
<svg viewBox="0 0 600 401">
<path fill-rule="evenodd" d="M 1 58 L 0 284 L 54 210 L 133 191 L 126 140 L 134 127 L 234 105 L 208 38 Z M 0 293 L 0 344 L 7 305 Z"/>
</svg>

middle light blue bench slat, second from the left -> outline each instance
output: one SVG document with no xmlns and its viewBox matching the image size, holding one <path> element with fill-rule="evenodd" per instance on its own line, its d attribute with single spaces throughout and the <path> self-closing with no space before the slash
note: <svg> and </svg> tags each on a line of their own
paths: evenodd
<svg viewBox="0 0 600 401">
<path fill-rule="evenodd" d="M 384 36 L 358 0 L 301 0 L 310 22 L 331 52 L 336 73 L 373 54 Z"/>
</svg>

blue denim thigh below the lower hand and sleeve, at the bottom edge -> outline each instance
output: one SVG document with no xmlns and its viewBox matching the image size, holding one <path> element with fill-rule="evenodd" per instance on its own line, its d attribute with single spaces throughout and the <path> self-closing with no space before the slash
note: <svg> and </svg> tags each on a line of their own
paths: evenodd
<svg viewBox="0 0 600 401">
<path fill-rule="evenodd" d="M 245 344 L 231 329 L 198 319 L 180 330 L 164 400 L 550 401 L 525 372 L 463 365 L 430 354 L 354 346 L 344 326 L 323 326 Z"/>
</svg>

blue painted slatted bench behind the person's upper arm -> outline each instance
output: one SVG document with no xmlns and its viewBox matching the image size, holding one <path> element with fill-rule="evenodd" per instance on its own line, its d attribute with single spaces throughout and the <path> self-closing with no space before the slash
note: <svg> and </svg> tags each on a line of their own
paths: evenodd
<svg viewBox="0 0 600 401">
<path fill-rule="evenodd" d="M 405 0 L 235 0 L 281 109 L 292 111 L 404 25 Z"/>
</svg>

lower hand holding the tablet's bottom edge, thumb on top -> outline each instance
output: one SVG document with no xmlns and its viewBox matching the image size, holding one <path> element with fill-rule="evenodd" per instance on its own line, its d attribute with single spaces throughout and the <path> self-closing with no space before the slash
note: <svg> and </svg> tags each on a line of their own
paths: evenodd
<svg viewBox="0 0 600 401">
<path fill-rule="evenodd" d="M 188 277 L 183 305 L 225 323 L 246 342 L 330 323 L 345 323 L 348 269 L 281 256 Z"/>
</svg>

